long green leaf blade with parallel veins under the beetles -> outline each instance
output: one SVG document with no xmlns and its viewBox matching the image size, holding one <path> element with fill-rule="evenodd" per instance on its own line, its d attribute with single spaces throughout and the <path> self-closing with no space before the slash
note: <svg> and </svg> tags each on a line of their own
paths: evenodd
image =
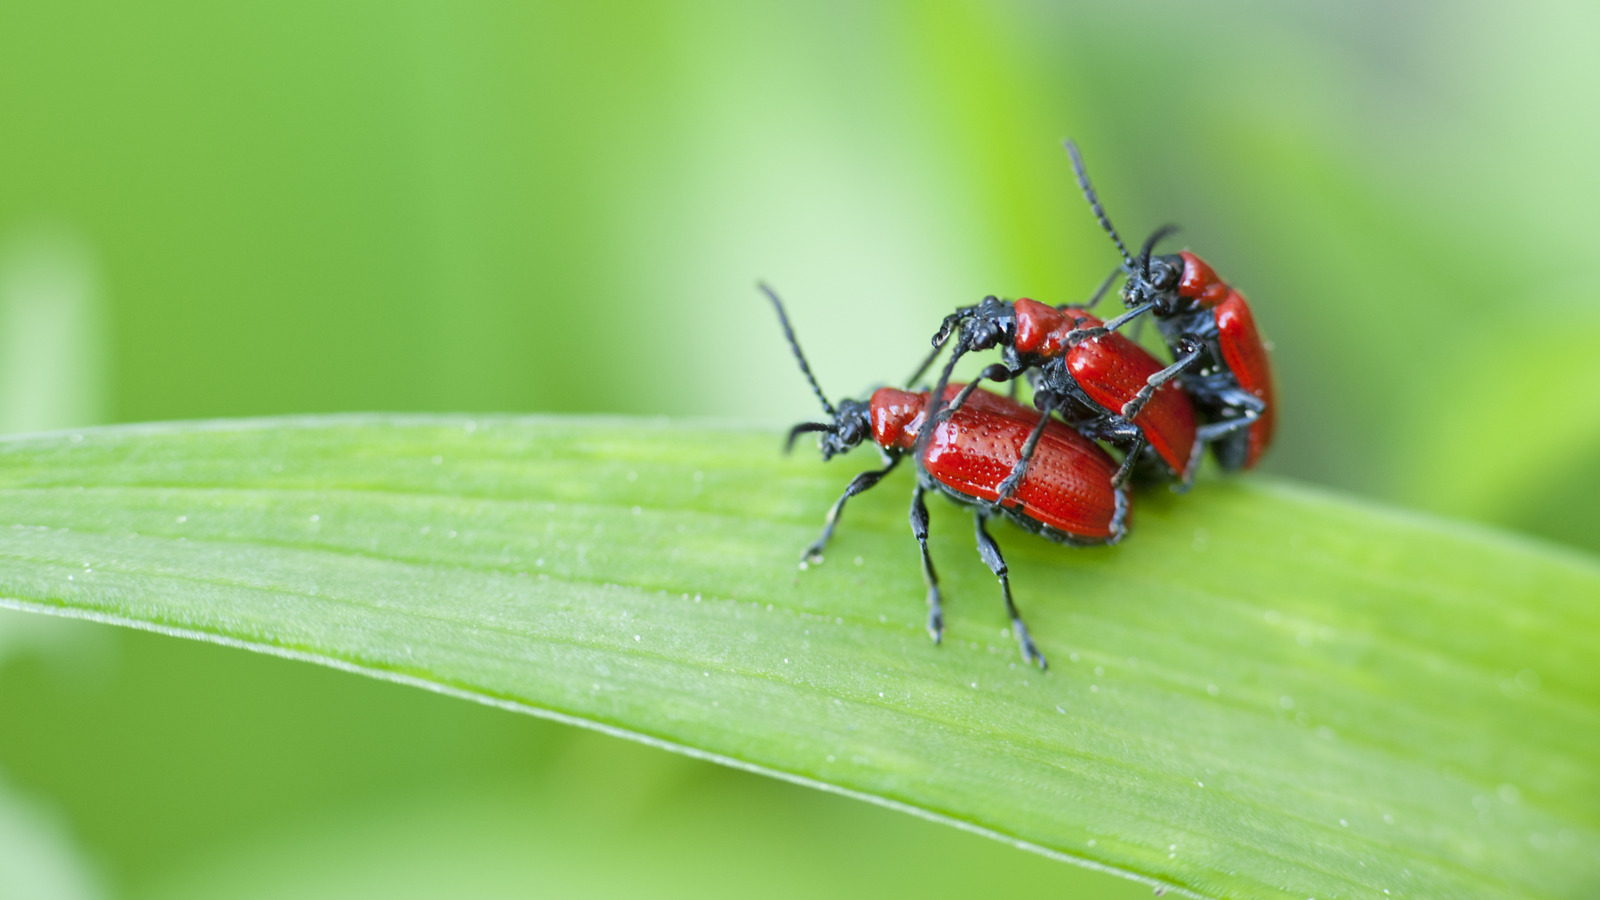
<svg viewBox="0 0 1600 900">
<path fill-rule="evenodd" d="M 862 460 L 866 461 L 866 460 Z M 0 442 L 8 605 L 574 721 L 1202 897 L 1586 897 L 1600 567 L 1259 477 L 1117 548 L 997 538 L 1021 665 L 909 472 L 661 421 L 307 418 Z"/>
</svg>

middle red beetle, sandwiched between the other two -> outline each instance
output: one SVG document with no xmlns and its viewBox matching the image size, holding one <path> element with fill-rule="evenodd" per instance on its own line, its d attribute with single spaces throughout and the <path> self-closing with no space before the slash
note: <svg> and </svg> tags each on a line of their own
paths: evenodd
<svg viewBox="0 0 1600 900">
<path fill-rule="evenodd" d="M 939 328 L 934 344 L 958 331 L 941 383 L 962 354 L 1002 346 L 1005 365 L 986 368 L 979 380 L 1005 381 L 1034 372 L 1034 405 L 1042 413 L 1059 412 L 1083 434 L 1125 448 L 1117 485 L 1146 447 L 1163 474 L 1187 485 L 1200 444 L 1189 396 L 1171 381 L 1184 364 L 1163 368 L 1149 351 L 1117 333 L 1117 325 L 1120 322 L 1101 322 L 1082 307 L 984 298 L 978 306 L 957 309 Z M 1190 356 L 1198 354 L 1198 346 L 1186 344 L 1186 349 Z M 952 405 L 962 402 L 957 396 Z M 1027 464 L 1024 452 L 1005 487 L 1019 480 Z"/>
</svg>

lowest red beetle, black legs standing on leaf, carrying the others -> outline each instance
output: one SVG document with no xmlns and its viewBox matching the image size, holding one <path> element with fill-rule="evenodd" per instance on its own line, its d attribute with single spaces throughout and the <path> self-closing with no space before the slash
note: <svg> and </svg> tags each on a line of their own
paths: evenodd
<svg viewBox="0 0 1600 900">
<path fill-rule="evenodd" d="M 1128 532 L 1128 495 L 1112 480 L 1117 472 L 1115 460 L 1062 421 L 987 391 L 973 392 L 962 384 L 947 384 L 942 399 L 949 404 L 965 394 L 965 404 L 946 408 L 949 415 L 931 429 L 926 428 L 928 392 L 878 388 L 867 402 L 842 400 L 835 408 L 811 375 L 778 295 L 766 285 L 762 290 L 778 311 L 800 372 L 811 383 L 822 410 L 832 416 L 832 421 L 794 426 L 784 448 L 790 448 L 802 434 L 819 432 L 822 460 L 869 439 L 885 458 L 882 469 L 861 472 L 850 482 L 827 511 L 822 535 L 805 549 L 802 559 L 821 562 L 822 548 L 834 535 L 845 501 L 878 484 L 901 460 L 914 455 L 918 479 L 910 498 L 910 530 L 922 549 L 922 573 L 928 583 L 928 634 L 934 642 L 944 634 L 939 580 L 928 556 L 928 508 L 923 503 L 923 493 L 934 490 L 973 508 L 978 554 L 1000 580 L 1000 593 L 1022 658 L 1045 668 L 1045 657 L 1034 645 L 1011 599 L 1005 557 L 1000 544 L 989 535 L 987 522 L 997 516 L 1010 519 L 1035 535 L 1070 546 L 1117 543 Z M 1034 444 L 1032 464 L 1006 495 L 1002 482 L 1022 458 L 1024 444 Z"/>
</svg>

